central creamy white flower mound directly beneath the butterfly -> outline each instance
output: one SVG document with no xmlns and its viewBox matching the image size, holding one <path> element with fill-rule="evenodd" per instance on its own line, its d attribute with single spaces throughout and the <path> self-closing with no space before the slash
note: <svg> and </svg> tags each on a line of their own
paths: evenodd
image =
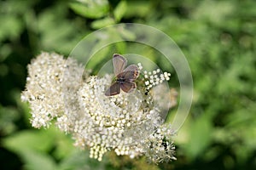
<svg viewBox="0 0 256 170">
<path fill-rule="evenodd" d="M 105 96 L 109 81 L 108 75 L 90 77 L 89 82 L 79 89 L 79 103 L 84 108 L 84 115 L 76 125 L 77 145 L 84 147 L 79 141 L 90 145 L 90 156 L 98 160 L 102 160 L 108 149 L 113 149 L 117 155 L 140 155 L 137 150 L 144 145 L 143 139 L 148 137 L 146 132 L 154 133 L 154 129 L 160 126 L 159 113 L 143 111 L 142 96 L 138 93 Z M 81 122 L 86 126 L 81 126 Z M 91 134 L 96 135 L 92 137 Z"/>
</svg>

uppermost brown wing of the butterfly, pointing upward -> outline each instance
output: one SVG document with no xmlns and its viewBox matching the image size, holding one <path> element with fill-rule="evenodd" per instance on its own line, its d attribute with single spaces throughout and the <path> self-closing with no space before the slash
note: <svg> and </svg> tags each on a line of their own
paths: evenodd
<svg viewBox="0 0 256 170">
<path fill-rule="evenodd" d="M 120 54 L 113 54 L 113 73 L 115 76 L 124 71 L 127 60 Z"/>
</svg>

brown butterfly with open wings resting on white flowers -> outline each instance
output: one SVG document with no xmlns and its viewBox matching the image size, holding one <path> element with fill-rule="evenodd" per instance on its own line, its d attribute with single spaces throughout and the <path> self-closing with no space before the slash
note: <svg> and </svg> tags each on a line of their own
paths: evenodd
<svg viewBox="0 0 256 170">
<path fill-rule="evenodd" d="M 130 93 L 135 89 L 135 80 L 139 76 L 137 65 L 127 65 L 127 60 L 120 54 L 113 54 L 113 73 L 115 80 L 110 88 L 105 92 L 106 96 L 113 96 L 120 93 L 122 89 L 125 93 Z"/>
</svg>

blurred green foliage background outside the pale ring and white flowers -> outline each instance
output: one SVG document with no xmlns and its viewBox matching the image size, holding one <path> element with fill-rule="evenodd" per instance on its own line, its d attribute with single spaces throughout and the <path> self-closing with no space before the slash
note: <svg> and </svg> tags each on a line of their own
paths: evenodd
<svg viewBox="0 0 256 170">
<path fill-rule="evenodd" d="M 112 152 L 102 162 L 92 160 L 54 127 L 33 129 L 20 102 L 26 65 L 40 51 L 68 55 L 85 35 L 121 22 L 164 31 L 189 61 L 195 95 L 175 139 L 177 161 L 150 165 Z M 115 48 L 125 53 L 126 46 Z M 171 72 L 170 85 L 178 89 Z M 1 0 L 0 168 L 256 169 L 255 76 L 254 0 Z"/>
</svg>

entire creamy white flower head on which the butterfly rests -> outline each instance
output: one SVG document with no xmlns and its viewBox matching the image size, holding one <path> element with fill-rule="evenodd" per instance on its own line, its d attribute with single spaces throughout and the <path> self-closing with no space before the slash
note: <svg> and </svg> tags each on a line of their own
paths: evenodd
<svg viewBox="0 0 256 170">
<path fill-rule="evenodd" d="M 142 88 L 108 97 L 105 91 L 111 76 L 89 77 L 75 60 L 58 54 L 40 54 L 28 72 L 21 99 L 30 104 L 33 127 L 55 122 L 61 131 L 73 135 L 75 145 L 89 147 L 90 157 L 99 161 L 108 150 L 131 158 L 144 155 L 154 163 L 175 160 L 172 127 L 163 124 L 159 108 L 152 105 L 153 97 L 140 92 Z M 152 74 L 156 73 L 160 71 Z M 163 81 L 170 75 L 161 77 Z M 154 85 L 150 82 L 152 86 L 156 79 Z"/>
</svg>

